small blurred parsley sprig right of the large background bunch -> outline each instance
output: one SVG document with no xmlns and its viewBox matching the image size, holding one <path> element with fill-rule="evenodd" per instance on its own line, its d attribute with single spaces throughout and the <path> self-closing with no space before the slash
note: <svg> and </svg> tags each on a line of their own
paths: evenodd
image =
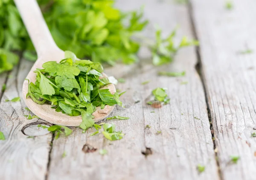
<svg viewBox="0 0 256 180">
<path fill-rule="evenodd" d="M 166 39 L 161 38 L 162 31 L 160 29 L 156 31 L 156 44 L 151 46 L 151 54 L 154 65 L 158 66 L 172 62 L 178 50 L 183 47 L 192 45 L 198 46 L 198 41 L 189 41 L 186 36 L 183 36 L 180 44 L 175 46 L 174 37 L 176 35 L 176 29 L 177 28 L 175 28 Z"/>
</svg>

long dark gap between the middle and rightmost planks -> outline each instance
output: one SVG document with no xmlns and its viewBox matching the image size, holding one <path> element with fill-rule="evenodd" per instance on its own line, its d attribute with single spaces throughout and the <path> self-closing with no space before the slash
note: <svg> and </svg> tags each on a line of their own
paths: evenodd
<svg viewBox="0 0 256 180">
<path fill-rule="evenodd" d="M 190 23 L 191 23 L 191 27 L 192 27 L 192 34 L 194 36 L 194 38 L 196 40 L 198 40 L 198 35 L 197 35 L 197 32 L 196 32 L 196 28 L 195 28 L 195 21 L 194 21 L 194 17 L 193 17 L 193 8 L 192 8 L 192 4 L 191 4 L 191 1 L 188 2 L 188 11 L 189 11 L 189 19 L 190 19 Z M 216 161 L 216 164 L 218 166 L 218 176 L 220 178 L 220 180 L 223 180 L 223 176 L 222 176 L 222 173 L 221 173 L 221 168 L 220 168 L 220 162 L 218 160 L 218 154 L 217 152 L 215 151 L 216 149 L 216 143 L 215 143 L 215 137 L 214 137 L 214 131 L 213 131 L 213 126 L 212 126 L 212 122 L 213 122 L 213 119 L 212 119 L 212 116 L 211 116 L 211 111 L 210 111 L 210 103 L 209 103 L 209 95 L 207 93 L 207 84 L 205 83 L 205 77 L 204 77 L 204 73 L 202 73 L 204 70 L 203 70 L 203 67 L 202 67 L 202 61 L 201 61 L 201 55 L 200 55 L 200 42 L 199 42 L 199 45 L 195 47 L 195 50 L 196 50 L 196 57 L 197 57 L 197 64 L 195 64 L 195 70 L 196 72 L 198 73 L 199 77 L 200 77 L 200 80 L 202 82 L 202 85 L 203 85 L 203 88 L 204 88 L 204 97 L 205 97 L 205 102 L 206 102 L 206 105 L 207 105 L 207 113 L 208 113 L 208 119 L 209 119 L 209 124 L 210 124 L 210 131 L 211 131 L 211 134 L 212 134 L 212 142 L 213 142 L 213 150 L 215 152 L 215 161 Z"/>
</svg>

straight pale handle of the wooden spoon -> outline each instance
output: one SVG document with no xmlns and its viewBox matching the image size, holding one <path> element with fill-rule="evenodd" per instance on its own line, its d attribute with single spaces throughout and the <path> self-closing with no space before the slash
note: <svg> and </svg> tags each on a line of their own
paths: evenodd
<svg viewBox="0 0 256 180">
<path fill-rule="evenodd" d="M 38 58 L 59 51 L 36 0 L 14 0 Z"/>
</svg>

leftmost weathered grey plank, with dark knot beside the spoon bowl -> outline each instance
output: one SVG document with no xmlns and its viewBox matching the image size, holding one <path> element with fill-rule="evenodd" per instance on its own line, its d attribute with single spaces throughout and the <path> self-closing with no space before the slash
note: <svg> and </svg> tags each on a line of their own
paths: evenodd
<svg viewBox="0 0 256 180">
<path fill-rule="evenodd" d="M 29 112 L 24 109 L 26 106 L 23 99 L 21 102 L 5 102 L 6 99 L 21 95 L 24 78 L 31 67 L 31 62 L 21 60 L 20 66 L 12 70 L 0 102 L 0 131 L 6 137 L 6 140 L 0 141 L 1 180 L 44 180 L 47 172 L 52 135 L 49 132 L 42 135 L 39 128 L 28 126 L 25 129 L 26 134 L 35 138 L 27 138 L 21 130 L 38 119 L 28 120 L 24 117 Z M 38 134 L 42 136 L 37 136 Z"/>
</svg>

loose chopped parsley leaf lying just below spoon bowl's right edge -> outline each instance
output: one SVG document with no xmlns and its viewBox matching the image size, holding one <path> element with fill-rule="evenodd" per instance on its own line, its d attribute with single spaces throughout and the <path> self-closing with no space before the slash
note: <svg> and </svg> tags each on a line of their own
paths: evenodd
<svg viewBox="0 0 256 180">
<path fill-rule="evenodd" d="M 122 139 L 125 134 L 122 134 L 122 131 L 115 131 L 115 128 L 115 125 L 106 123 L 103 125 L 102 134 L 111 141 Z"/>
</svg>

